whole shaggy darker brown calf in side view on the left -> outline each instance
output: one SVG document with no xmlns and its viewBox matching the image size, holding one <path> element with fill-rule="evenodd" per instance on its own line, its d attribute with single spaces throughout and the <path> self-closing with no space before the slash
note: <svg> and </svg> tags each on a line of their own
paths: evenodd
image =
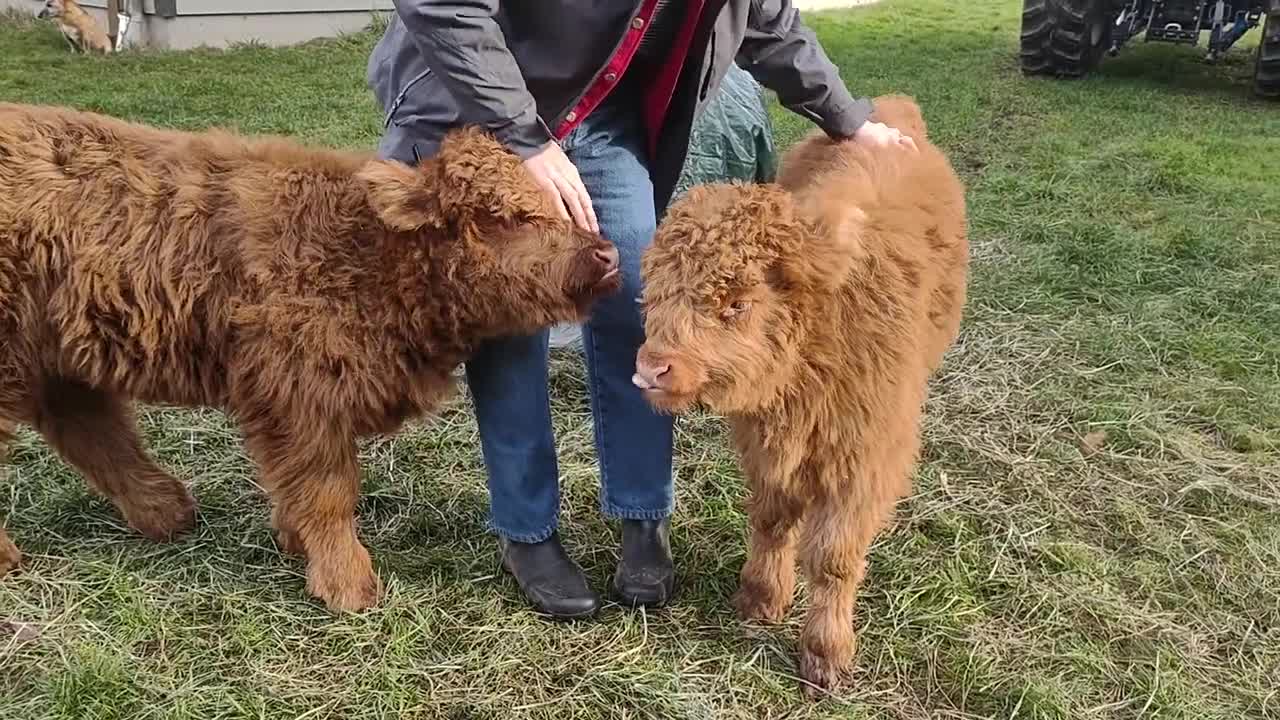
<svg viewBox="0 0 1280 720">
<path fill-rule="evenodd" d="M 282 546 L 334 609 L 380 587 L 357 438 L 435 407 L 476 342 L 580 322 L 617 287 L 613 246 L 479 131 L 413 169 L 0 104 L 0 429 L 31 424 L 165 538 L 192 498 L 128 401 L 232 413 Z M 0 537 L 0 571 L 14 560 Z"/>
</svg>

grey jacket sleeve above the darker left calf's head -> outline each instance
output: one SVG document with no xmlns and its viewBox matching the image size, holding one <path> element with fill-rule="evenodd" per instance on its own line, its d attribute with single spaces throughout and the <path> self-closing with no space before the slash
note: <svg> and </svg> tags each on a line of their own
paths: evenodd
<svg viewBox="0 0 1280 720">
<path fill-rule="evenodd" d="M 396 13 L 458 105 L 458 119 L 492 132 L 521 158 L 552 140 L 494 20 L 499 0 L 394 0 Z"/>
</svg>

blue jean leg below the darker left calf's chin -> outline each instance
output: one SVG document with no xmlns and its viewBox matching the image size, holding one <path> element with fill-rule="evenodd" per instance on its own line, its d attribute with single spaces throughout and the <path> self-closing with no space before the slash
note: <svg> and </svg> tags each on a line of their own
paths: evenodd
<svg viewBox="0 0 1280 720">
<path fill-rule="evenodd" d="M 543 331 L 490 341 L 466 365 L 489 473 L 489 527 L 517 542 L 547 539 L 559 514 L 547 351 Z"/>
</svg>

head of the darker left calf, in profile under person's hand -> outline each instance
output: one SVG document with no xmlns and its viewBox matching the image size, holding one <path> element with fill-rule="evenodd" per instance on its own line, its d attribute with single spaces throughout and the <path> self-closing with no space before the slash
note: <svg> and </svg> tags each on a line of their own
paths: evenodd
<svg viewBox="0 0 1280 720">
<path fill-rule="evenodd" d="M 488 332 L 582 320 L 621 286 L 617 249 L 561 219 L 520 159 L 477 129 L 452 132 L 417 168 L 375 160 L 360 178 L 388 228 L 422 234 L 434 272 Z"/>
</svg>

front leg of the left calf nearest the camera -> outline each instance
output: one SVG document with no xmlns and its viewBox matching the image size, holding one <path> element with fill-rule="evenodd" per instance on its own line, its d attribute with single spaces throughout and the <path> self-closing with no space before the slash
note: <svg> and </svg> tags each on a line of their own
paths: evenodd
<svg viewBox="0 0 1280 720">
<path fill-rule="evenodd" d="M 307 592 L 334 611 L 376 605 L 381 582 L 356 536 L 360 466 L 352 433 L 246 428 L 246 445 L 274 505 L 280 547 L 306 557 Z"/>
</svg>

